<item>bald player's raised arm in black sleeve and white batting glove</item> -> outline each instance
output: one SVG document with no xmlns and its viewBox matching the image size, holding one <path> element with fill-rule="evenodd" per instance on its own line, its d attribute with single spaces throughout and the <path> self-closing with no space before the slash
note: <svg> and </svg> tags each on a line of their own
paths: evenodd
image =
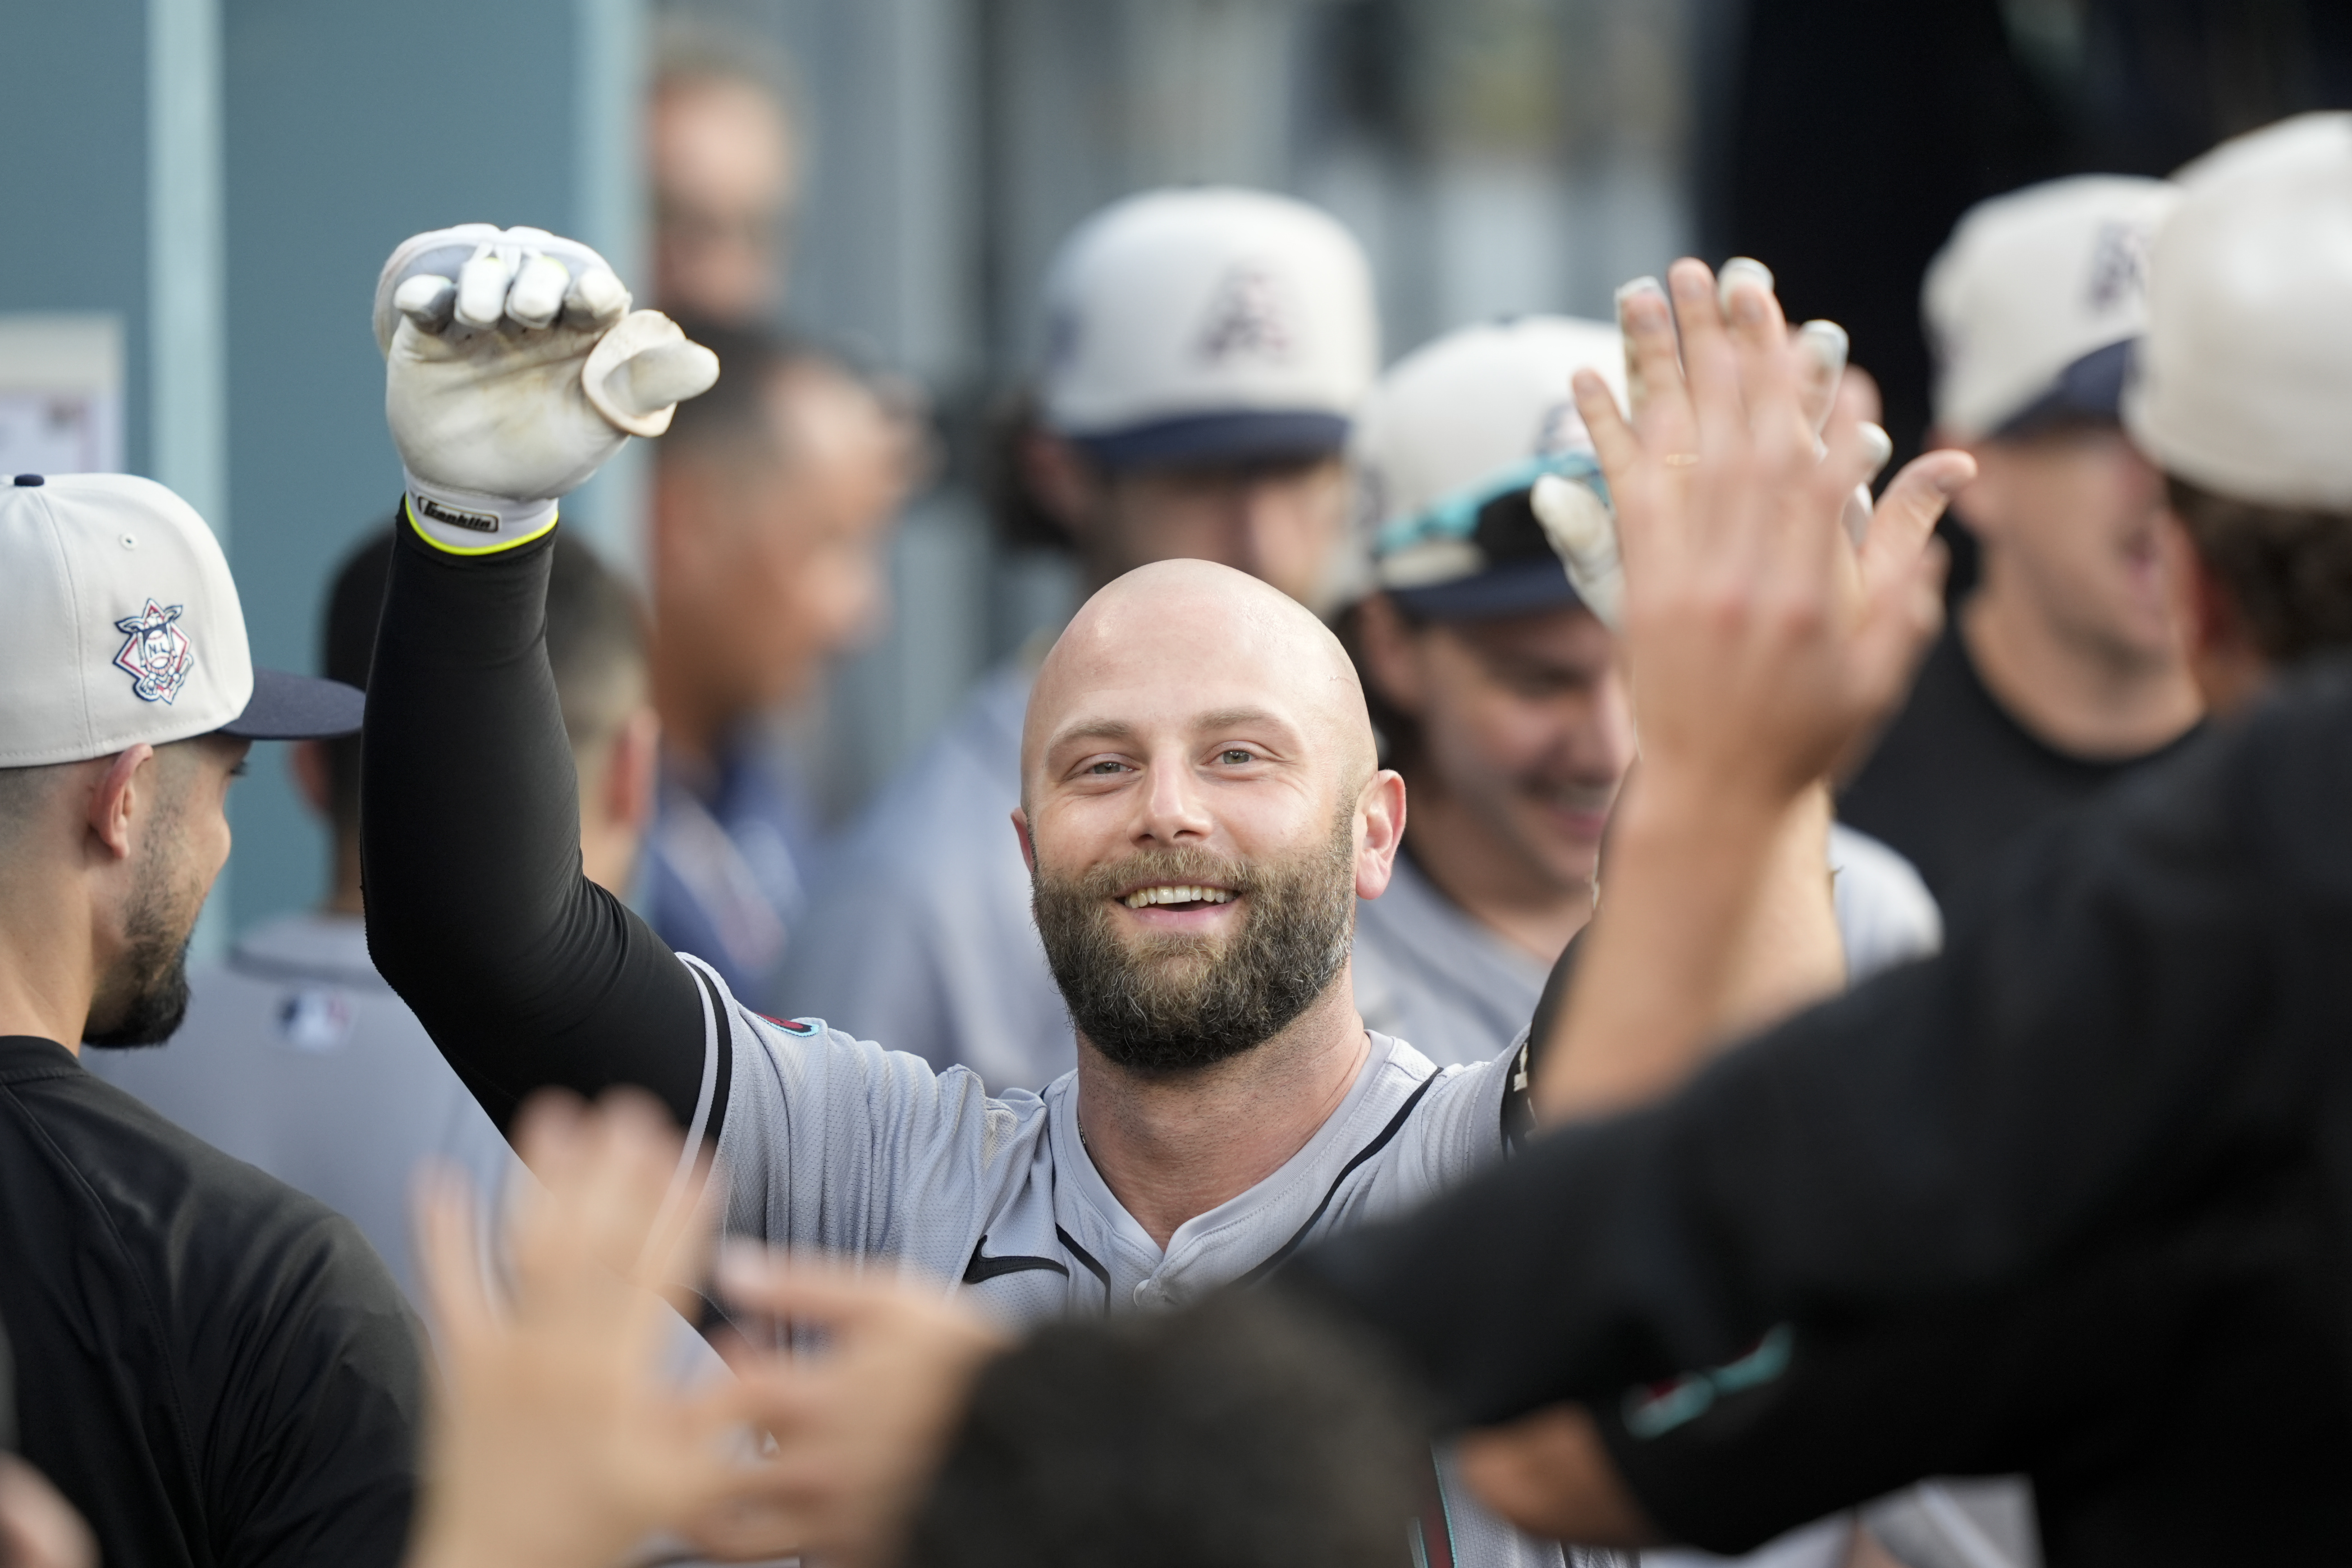
<svg viewBox="0 0 2352 1568">
<path fill-rule="evenodd" d="M 656 433 L 604 407 L 656 381 L 614 341 L 682 343 L 626 310 L 593 252 L 534 230 L 419 235 L 386 266 L 376 331 L 409 489 L 362 733 L 367 940 L 501 1126 L 548 1084 L 637 1084 L 715 1133 L 701 983 L 581 875 L 546 654 L 555 496 L 626 440 L 616 414 Z"/>
</svg>

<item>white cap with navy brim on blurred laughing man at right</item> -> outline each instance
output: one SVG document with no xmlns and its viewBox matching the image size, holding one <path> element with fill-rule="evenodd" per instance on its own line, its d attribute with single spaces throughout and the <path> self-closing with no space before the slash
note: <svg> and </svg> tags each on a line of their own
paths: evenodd
<svg viewBox="0 0 2352 1568">
<path fill-rule="evenodd" d="M 2119 416 L 2131 341 L 2147 320 L 2147 242 L 2178 200 L 2161 179 L 2082 174 L 1959 219 L 1919 287 L 1947 437 Z"/>
</svg>

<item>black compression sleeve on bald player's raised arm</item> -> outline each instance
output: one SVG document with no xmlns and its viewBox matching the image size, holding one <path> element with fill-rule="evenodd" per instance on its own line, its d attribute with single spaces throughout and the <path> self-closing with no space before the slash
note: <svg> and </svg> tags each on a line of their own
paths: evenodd
<svg viewBox="0 0 2352 1568">
<path fill-rule="evenodd" d="M 367 947 L 501 1128 L 548 1084 L 637 1084 L 687 1126 L 701 985 L 581 875 L 548 670 L 553 545 L 456 557 L 400 529 L 360 748 Z"/>
</svg>

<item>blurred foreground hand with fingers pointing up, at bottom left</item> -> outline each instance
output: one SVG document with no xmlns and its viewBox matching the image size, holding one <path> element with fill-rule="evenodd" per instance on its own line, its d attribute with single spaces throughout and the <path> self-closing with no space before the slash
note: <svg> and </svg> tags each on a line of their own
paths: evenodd
<svg viewBox="0 0 2352 1568">
<path fill-rule="evenodd" d="M 510 1291 L 485 1279 L 463 1178 L 416 1206 L 442 1378 L 409 1568 L 612 1563 L 753 1479 L 743 1389 L 663 1368 L 656 1291 L 710 1251 L 677 1128 L 640 1093 L 539 1095 L 515 1143 L 536 1180 L 503 1227 Z"/>
</svg>

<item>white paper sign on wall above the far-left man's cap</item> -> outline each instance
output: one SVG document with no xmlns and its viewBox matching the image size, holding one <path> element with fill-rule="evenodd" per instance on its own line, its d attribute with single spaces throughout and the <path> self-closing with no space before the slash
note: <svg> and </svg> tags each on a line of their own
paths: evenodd
<svg viewBox="0 0 2352 1568">
<path fill-rule="evenodd" d="M 122 317 L 0 315 L 0 475 L 122 470 Z"/>
</svg>

